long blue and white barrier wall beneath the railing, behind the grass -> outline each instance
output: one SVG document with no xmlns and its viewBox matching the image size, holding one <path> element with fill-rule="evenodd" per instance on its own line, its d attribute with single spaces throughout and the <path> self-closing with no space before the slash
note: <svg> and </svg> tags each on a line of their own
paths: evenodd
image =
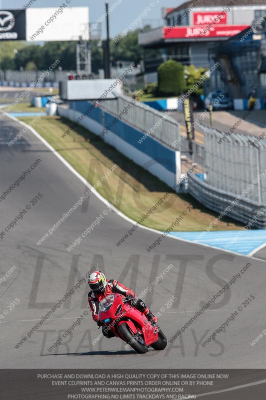
<svg viewBox="0 0 266 400">
<path fill-rule="evenodd" d="M 104 102 L 102 102 L 104 105 Z M 106 112 L 91 101 L 70 101 L 69 109 L 58 106 L 60 115 L 79 123 L 104 141 L 132 159 L 169 186 L 174 186 L 180 177 L 181 155 L 159 140 L 129 125 L 117 116 Z M 144 138 L 140 143 L 141 138 Z"/>
</svg>

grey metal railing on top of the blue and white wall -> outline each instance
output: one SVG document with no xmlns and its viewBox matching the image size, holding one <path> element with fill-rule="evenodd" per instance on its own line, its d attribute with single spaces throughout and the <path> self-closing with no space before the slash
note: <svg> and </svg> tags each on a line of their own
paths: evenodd
<svg viewBox="0 0 266 400">
<path fill-rule="evenodd" d="M 136 101 L 131 97 L 116 93 L 117 98 L 105 100 L 104 108 L 137 127 L 145 135 L 155 137 L 175 150 L 180 150 L 180 125 L 166 113 Z M 179 140 L 177 140 L 179 139 Z"/>
</svg>

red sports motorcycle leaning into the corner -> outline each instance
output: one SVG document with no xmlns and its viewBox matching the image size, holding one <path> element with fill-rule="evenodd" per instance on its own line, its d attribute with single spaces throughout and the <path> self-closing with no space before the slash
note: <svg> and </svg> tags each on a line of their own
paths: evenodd
<svg viewBox="0 0 266 400">
<path fill-rule="evenodd" d="M 167 338 L 157 324 L 151 323 L 146 316 L 127 304 L 121 294 L 109 294 L 99 303 L 99 319 L 117 337 L 126 341 L 138 353 L 146 353 L 148 347 L 163 350 Z"/>
</svg>

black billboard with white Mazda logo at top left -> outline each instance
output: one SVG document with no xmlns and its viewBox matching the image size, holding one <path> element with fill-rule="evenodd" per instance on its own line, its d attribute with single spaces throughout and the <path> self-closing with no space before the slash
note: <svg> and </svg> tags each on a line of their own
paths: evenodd
<svg viewBox="0 0 266 400">
<path fill-rule="evenodd" d="M 0 10 L 0 40 L 25 40 L 26 17 L 24 9 Z"/>
</svg>

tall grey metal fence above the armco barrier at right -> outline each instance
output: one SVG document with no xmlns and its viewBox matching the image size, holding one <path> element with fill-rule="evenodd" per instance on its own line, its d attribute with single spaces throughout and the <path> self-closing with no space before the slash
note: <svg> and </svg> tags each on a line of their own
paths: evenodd
<svg viewBox="0 0 266 400">
<path fill-rule="evenodd" d="M 265 204 L 266 141 L 253 135 L 227 134 L 200 126 L 205 133 L 208 183 L 218 190 L 238 195 L 260 176 L 258 183 L 245 196 Z"/>
</svg>

